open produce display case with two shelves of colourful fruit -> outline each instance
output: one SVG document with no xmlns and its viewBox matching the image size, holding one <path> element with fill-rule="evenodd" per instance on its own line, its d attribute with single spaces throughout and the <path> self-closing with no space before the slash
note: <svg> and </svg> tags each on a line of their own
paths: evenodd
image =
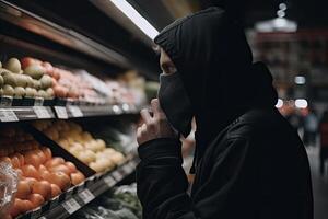
<svg viewBox="0 0 328 219">
<path fill-rule="evenodd" d="M 19 178 L 12 218 L 68 218 L 132 182 L 138 163 L 142 71 L 57 21 L 0 1 L 0 159 Z"/>
</svg>

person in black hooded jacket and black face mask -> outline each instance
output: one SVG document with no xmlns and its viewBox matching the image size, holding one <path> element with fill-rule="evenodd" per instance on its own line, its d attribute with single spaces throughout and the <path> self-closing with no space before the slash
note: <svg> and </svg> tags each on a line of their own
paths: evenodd
<svg viewBox="0 0 328 219">
<path fill-rule="evenodd" d="M 177 20 L 154 41 L 161 88 L 141 112 L 138 196 L 145 219 L 312 219 L 306 152 L 278 113 L 263 64 L 242 27 L 210 8 Z M 195 182 L 181 168 L 179 135 L 195 117 Z M 191 170 L 194 172 L 194 170 Z"/>
</svg>

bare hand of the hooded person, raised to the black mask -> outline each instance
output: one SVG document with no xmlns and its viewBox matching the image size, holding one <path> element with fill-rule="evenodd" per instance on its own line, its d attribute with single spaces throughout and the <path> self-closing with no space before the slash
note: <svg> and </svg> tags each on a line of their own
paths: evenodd
<svg viewBox="0 0 328 219">
<path fill-rule="evenodd" d="M 140 112 L 144 124 L 137 131 L 139 146 L 155 138 L 177 138 L 177 134 L 168 124 L 157 99 L 151 101 L 151 108 L 153 116 L 145 108 Z"/>
</svg>

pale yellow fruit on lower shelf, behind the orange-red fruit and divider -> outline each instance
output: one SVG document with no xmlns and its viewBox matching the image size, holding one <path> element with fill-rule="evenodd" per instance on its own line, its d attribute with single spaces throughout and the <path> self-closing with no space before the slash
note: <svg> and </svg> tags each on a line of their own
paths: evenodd
<svg viewBox="0 0 328 219">
<path fill-rule="evenodd" d="M 34 126 L 96 172 L 112 170 L 126 161 L 122 153 L 107 148 L 103 139 L 94 139 L 75 123 L 37 120 L 34 122 Z M 59 160 L 51 162 L 56 162 L 57 165 L 63 164 L 63 161 Z M 46 166 L 49 165 L 52 163 L 46 163 Z M 72 166 L 67 164 L 67 168 Z M 60 169 L 63 172 L 68 171 L 63 165 Z"/>
</svg>

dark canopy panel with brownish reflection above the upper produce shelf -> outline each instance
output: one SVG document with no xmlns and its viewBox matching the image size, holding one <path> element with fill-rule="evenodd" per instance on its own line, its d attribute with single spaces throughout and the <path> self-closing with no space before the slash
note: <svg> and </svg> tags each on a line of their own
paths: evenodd
<svg viewBox="0 0 328 219">
<path fill-rule="evenodd" d="M 77 33 L 75 31 L 43 19 L 9 1 L 0 0 L 0 19 L 31 33 L 106 61 L 107 64 L 114 64 L 115 66 L 120 66 L 122 68 L 131 67 L 130 61 L 126 57 L 112 48 Z"/>
</svg>

